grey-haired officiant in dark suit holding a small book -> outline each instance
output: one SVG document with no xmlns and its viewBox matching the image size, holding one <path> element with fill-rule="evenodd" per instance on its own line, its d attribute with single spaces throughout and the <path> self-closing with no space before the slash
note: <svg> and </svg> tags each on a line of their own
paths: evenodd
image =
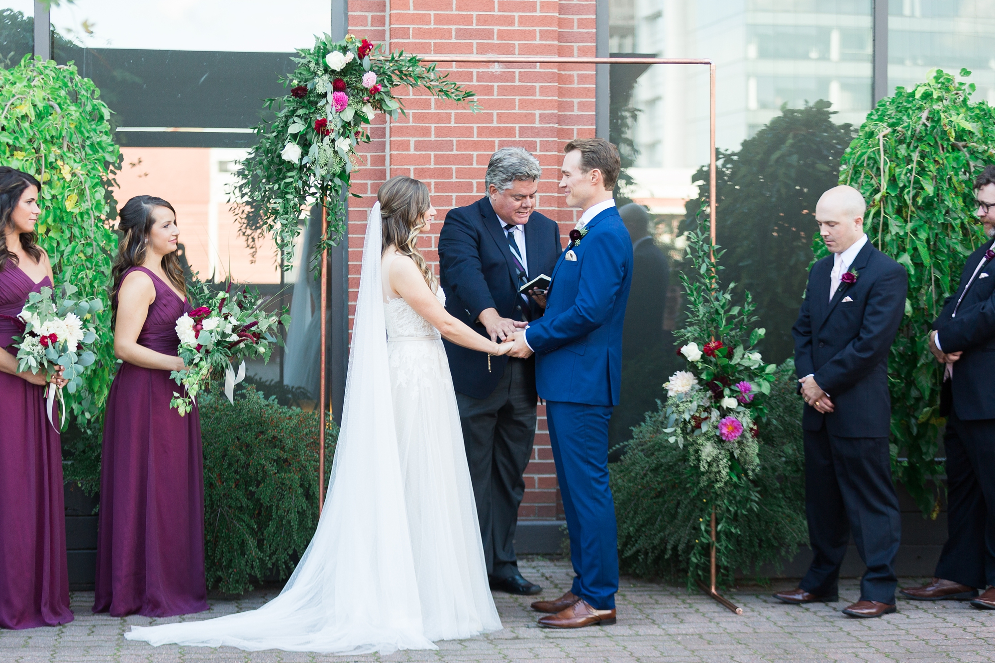
<svg viewBox="0 0 995 663">
<path fill-rule="evenodd" d="M 552 274 L 562 247 L 556 222 L 535 211 L 539 161 L 521 147 L 494 153 L 487 195 L 450 210 L 439 234 L 440 281 L 449 313 L 502 341 L 542 315 L 544 299 L 519 288 Z M 493 589 L 535 594 L 514 554 L 522 474 L 535 437 L 535 359 L 489 357 L 444 341 L 456 388 L 477 515 Z"/>
</svg>

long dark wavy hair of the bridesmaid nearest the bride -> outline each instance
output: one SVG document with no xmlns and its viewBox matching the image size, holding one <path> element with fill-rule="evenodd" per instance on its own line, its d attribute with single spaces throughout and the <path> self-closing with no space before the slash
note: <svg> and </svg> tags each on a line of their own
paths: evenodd
<svg viewBox="0 0 995 663">
<path fill-rule="evenodd" d="M 121 238 L 117 243 L 117 257 L 110 268 L 111 326 L 117 320 L 117 290 L 121 286 L 124 272 L 145 261 L 148 234 L 155 225 L 152 212 L 157 207 L 164 207 L 176 215 L 172 205 L 155 196 L 135 196 L 117 211 L 120 219 L 117 230 L 121 232 Z M 176 251 L 162 256 L 162 270 L 166 272 L 166 276 L 176 289 L 186 295 L 186 280 L 183 278 L 183 267 L 180 266 Z"/>
</svg>

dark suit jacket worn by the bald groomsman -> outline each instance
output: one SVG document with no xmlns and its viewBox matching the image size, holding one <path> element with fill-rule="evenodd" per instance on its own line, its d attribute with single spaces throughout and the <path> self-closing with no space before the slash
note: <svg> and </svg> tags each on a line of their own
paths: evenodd
<svg viewBox="0 0 995 663">
<path fill-rule="evenodd" d="M 888 437 L 888 352 L 905 310 L 908 276 L 868 242 L 850 265 L 857 282 L 840 283 L 830 301 L 832 270 L 832 255 L 812 265 L 791 335 L 798 377 L 815 374 L 835 412 L 821 414 L 806 405 L 802 427 L 819 430 L 825 422 L 827 431 L 839 437 Z"/>
</svg>

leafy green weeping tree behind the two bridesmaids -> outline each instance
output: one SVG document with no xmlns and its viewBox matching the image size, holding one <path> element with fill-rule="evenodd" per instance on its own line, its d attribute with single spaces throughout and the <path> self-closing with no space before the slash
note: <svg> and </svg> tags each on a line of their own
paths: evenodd
<svg viewBox="0 0 995 663">
<path fill-rule="evenodd" d="M 37 231 L 56 284 L 72 283 L 78 299 L 103 302 L 94 315 L 104 332 L 93 350 L 104 370 L 84 373 L 83 389 L 66 399 L 85 426 L 103 407 L 115 363 L 107 285 L 117 237 L 108 222 L 115 214 L 109 190 L 116 186 L 120 151 L 107 122 L 110 109 L 76 66 L 28 56 L 0 70 L 0 108 L 0 163 L 42 182 Z"/>
</svg>

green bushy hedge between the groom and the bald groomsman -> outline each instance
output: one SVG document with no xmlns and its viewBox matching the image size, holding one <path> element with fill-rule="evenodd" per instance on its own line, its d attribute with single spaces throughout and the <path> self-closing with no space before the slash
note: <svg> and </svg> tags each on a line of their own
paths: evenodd
<svg viewBox="0 0 995 663">
<path fill-rule="evenodd" d="M 794 362 L 777 371 L 759 422 L 760 469 L 735 485 L 717 505 L 719 580 L 736 572 L 755 574 L 760 565 L 792 556 L 807 543 L 802 448 L 802 401 L 796 394 Z M 664 409 L 648 413 L 634 428 L 622 460 L 611 470 L 622 570 L 635 576 L 707 581 L 692 572 L 707 569 L 711 495 L 699 484 L 688 449 L 667 441 Z M 747 504 L 743 509 L 733 505 Z M 734 535 L 734 536 L 723 536 Z M 692 564 L 697 560 L 698 564 Z M 707 573 L 706 571 L 703 573 Z"/>
</svg>

